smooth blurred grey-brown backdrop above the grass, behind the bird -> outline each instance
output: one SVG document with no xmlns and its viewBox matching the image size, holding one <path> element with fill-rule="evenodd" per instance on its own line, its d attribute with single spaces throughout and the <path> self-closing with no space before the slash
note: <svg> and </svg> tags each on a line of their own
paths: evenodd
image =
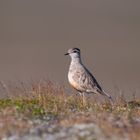
<svg viewBox="0 0 140 140">
<path fill-rule="evenodd" d="M 1 0 L 0 21 L 1 81 L 69 87 L 64 53 L 79 47 L 106 91 L 140 95 L 140 1 Z"/>
</svg>

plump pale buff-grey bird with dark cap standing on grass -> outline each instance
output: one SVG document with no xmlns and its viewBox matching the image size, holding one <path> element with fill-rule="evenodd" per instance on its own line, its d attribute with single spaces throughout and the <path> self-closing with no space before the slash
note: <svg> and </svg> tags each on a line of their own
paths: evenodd
<svg viewBox="0 0 140 140">
<path fill-rule="evenodd" d="M 81 51 L 79 48 L 70 48 L 65 55 L 71 57 L 71 63 L 68 72 L 68 81 L 70 85 L 84 96 L 85 93 L 100 94 L 106 96 L 111 103 L 112 97 L 106 93 L 92 73 L 85 67 L 81 59 Z"/>
</svg>

